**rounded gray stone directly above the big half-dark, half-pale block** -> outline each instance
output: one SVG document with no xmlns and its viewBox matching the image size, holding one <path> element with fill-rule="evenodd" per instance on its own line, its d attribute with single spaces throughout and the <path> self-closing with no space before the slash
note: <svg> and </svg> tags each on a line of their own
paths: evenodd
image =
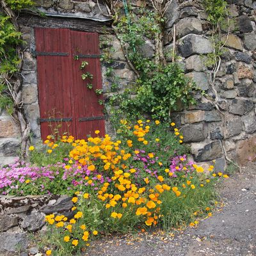
<svg viewBox="0 0 256 256">
<path fill-rule="evenodd" d="M 202 34 L 202 24 L 195 17 L 188 17 L 180 20 L 177 25 L 177 36 L 180 38 L 188 34 Z"/>
</svg>

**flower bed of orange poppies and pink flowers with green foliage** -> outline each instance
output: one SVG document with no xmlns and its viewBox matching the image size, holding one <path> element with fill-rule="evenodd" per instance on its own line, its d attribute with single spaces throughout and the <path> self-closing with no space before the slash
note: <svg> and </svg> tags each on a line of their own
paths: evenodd
<svg viewBox="0 0 256 256">
<path fill-rule="evenodd" d="M 81 252 L 90 239 L 104 234 L 152 226 L 193 227 L 205 214 L 211 216 L 214 184 L 217 177 L 227 175 L 213 173 L 214 166 L 206 175 L 189 161 L 174 125 L 150 120 L 131 125 L 121 120 L 116 140 L 108 134 L 100 138 L 99 131 L 87 141 L 63 136 L 56 142 L 49 136 L 43 151 L 30 148 L 32 164 L 2 170 L 0 191 L 74 195 L 72 214 L 52 212 L 45 217 L 48 255 Z M 61 158 L 62 163 L 49 161 Z"/>
</svg>

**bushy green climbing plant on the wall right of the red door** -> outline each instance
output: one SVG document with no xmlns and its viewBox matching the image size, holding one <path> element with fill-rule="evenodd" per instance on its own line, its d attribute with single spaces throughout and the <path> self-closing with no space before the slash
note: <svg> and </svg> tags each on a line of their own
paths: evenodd
<svg viewBox="0 0 256 256">
<path fill-rule="evenodd" d="M 115 14 L 113 28 L 120 40 L 127 61 L 136 74 L 135 88 L 109 100 L 112 106 L 119 106 L 113 113 L 134 118 L 143 113 L 153 118 L 170 120 L 170 113 L 177 110 L 179 102 L 194 104 L 193 91 L 196 86 L 184 76 L 178 63 L 168 63 L 163 51 L 164 13 L 171 1 L 152 0 L 150 8 L 140 8 L 138 15 L 125 6 L 126 15 L 115 9 L 115 3 L 108 1 L 109 10 Z M 143 52 L 147 38 L 154 40 L 154 56 Z M 136 93 L 136 95 L 131 96 Z"/>
</svg>

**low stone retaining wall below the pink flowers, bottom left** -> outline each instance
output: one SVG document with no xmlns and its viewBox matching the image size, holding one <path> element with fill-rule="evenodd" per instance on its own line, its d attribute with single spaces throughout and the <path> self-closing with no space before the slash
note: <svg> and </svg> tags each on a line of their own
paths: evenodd
<svg viewBox="0 0 256 256">
<path fill-rule="evenodd" d="M 19 250 L 36 254 L 38 249 L 33 247 L 33 241 L 29 241 L 29 232 L 44 231 L 47 214 L 59 213 L 71 218 L 71 199 L 65 195 L 0 196 L 0 255 L 2 252 L 16 255 L 14 252 Z"/>
</svg>

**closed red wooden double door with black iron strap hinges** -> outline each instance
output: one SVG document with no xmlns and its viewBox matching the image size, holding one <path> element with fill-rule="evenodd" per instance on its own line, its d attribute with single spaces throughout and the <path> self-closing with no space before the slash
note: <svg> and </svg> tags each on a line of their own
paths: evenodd
<svg viewBox="0 0 256 256">
<path fill-rule="evenodd" d="M 102 88 L 97 33 L 36 28 L 35 37 L 42 138 L 52 129 L 79 139 L 95 130 L 104 134 L 102 106 L 95 93 Z M 86 71 L 80 69 L 83 60 L 88 61 Z M 92 90 L 82 79 L 83 72 L 93 75 Z"/>
</svg>

